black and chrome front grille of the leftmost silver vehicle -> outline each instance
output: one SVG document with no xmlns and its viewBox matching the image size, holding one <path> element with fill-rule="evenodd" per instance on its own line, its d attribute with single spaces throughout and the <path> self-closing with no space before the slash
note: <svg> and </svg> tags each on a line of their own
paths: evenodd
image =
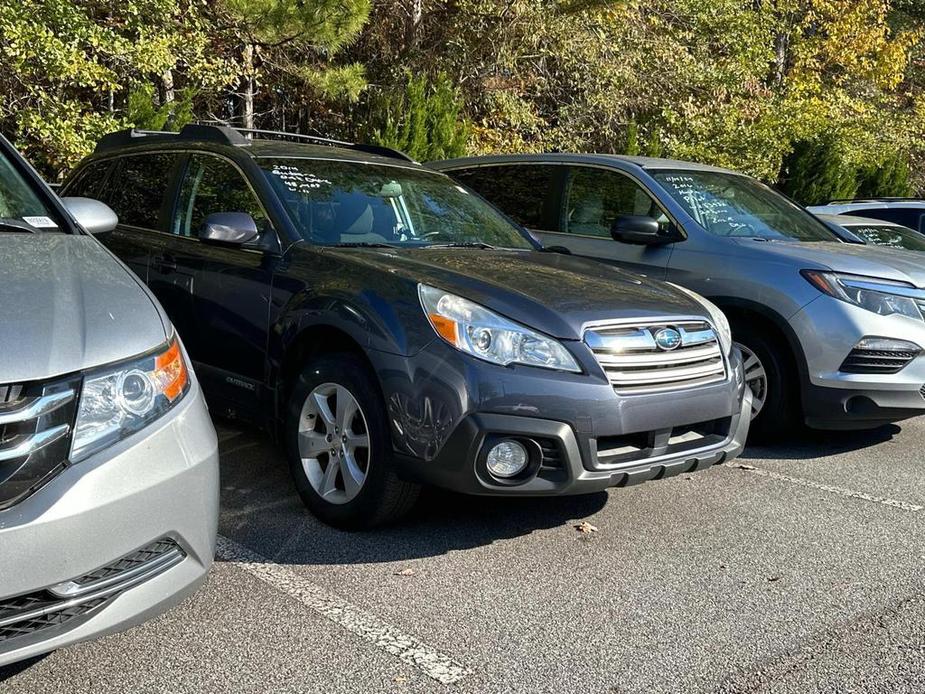
<svg viewBox="0 0 925 694">
<path fill-rule="evenodd" d="M 0 510 L 67 462 L 79 380 L 0 386 Z"/>
</svg>

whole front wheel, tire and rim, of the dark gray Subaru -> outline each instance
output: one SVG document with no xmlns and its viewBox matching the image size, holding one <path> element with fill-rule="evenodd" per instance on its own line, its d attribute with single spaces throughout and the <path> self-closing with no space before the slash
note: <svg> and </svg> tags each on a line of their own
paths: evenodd
<svg viewBox="0 0 925 694">
<path fill-rule="evenodd" d="M 298 377 L 286 425 L 289 468 L 302 501 L 342 528 L 368 528 L 410 510 L 419 487 L 400 480 L 382 397 L 352 354 L 313 360 Z"/>
</svg>

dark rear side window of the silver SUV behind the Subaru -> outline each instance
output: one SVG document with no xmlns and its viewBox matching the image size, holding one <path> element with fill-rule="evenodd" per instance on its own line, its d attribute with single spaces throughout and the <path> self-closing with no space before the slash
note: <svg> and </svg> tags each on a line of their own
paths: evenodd
<svg viewBox="0 0 925 694">
<path fill-rule="evenodd" d="M 509 164 L 453 171 L 450 175 L 519 224 L 543 229 L 550 226 L 546 210 L 558 168 L 552 165 Z"/>
</svg>

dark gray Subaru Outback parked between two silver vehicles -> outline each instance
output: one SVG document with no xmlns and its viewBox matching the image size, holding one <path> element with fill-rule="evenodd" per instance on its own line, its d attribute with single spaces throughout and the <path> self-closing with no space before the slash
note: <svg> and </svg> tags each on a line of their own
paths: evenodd
<svg viewBox="0 0 925 694">
<path fill-rule="evenodd" d="M 575 494 L 742 450 L 751 395 L 715 306 L 544 252 L 398 152 L 126 131 L 64 193 L 116 210 L 100 240 L 170 314 L 213 411 L 282 436 L 329 523 L 394 518 L 421 483 Z"/>
</svg>

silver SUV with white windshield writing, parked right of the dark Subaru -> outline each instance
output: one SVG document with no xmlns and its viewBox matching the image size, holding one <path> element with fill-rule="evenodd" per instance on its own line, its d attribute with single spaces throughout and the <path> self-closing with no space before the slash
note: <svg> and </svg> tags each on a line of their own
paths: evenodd
<svg viewBox="0 0 925 694">
<path fill-rule="evenodd" d="M 753 178 L 596 154 L 432 163 L 550 250 L 688 287 L 718 304 L 745 356 L 752 432 L 875 427 L 925 412 L 925 265 L 841 243 Z"/>
</svg>

